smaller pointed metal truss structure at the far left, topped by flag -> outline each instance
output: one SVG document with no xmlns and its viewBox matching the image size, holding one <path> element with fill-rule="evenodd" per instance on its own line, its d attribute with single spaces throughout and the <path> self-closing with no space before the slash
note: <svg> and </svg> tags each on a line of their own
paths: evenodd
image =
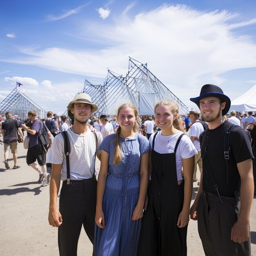
<svg viewBox="0 0 256 256">
<path fill-rule="evenodd" d="M 0 114 L 5 114 L 9 111 L 12 115 L 18 115 L 21 120 L 27 118 L 29 110 L 36 110 L 39 119 L 45 118 L 47 114 L 43 108 L 29 99 L 24 93 L 18 91 L 17 88 L 14 88 L 0 103 Z"/>
</svg>

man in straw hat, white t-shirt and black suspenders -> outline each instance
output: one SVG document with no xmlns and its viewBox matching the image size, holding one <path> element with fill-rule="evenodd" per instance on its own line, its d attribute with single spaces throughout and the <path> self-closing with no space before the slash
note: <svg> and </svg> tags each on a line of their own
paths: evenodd
<svg viewBox="0 0 256 256">
<path fill-rule="evenodd" d="M 49 224 L 58 227 L 60 255 L 76 255 L 79 235 L 83 225 L 94 245 L 94 217 L 96 210 L 97 180 L 95 179 L 95 154 L 100 159 L 101 133 L 88 128 L 87 121 L 98 107 L 88 94 L 80 93 L 67 106 L 73 126 L 65 131 L 69 144 L 69 169 L 64 153 L 63 135 L 54 138 L 47 160 L 52 163 L 50 182 Z M 63 133 L 63 132 L 62 132 Z M 69 178 L 70 177 L 70 178 Z M 62 183 L 59 209 L 57 195 Z M 93 249 L 93 254 L 94 249 Z"/>
</svg>

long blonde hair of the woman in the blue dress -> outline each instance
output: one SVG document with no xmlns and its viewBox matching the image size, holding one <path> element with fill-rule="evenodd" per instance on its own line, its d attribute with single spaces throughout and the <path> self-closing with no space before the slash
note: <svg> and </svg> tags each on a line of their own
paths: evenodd
<svg viewBox="0 0 256 256">
<path fill-rule="evenodd" d="M 117 110 L 117 117 L 119 116 L 119 113 L 123 108 L 131 108 L 134 112 L 135 118 L 138 117 L 138 110 L 131 103 L 122 104 Z M 133 132 L 139 132 L 139 126 L 137 124 L 137 121 L 135 121 L 134 126 L 132 127 L 132 130 Z M 116 132 L 116 138 L 114 140 L 116 147 L 115 147 L 115 152 L 113 157 L 113 164 L 115 165 L 121 163 L 121 146 L 122 145 L 120 141 L 120 135 L 121 135 L 121 127 L 118 126 L 117 132 Z"/>
</svg>

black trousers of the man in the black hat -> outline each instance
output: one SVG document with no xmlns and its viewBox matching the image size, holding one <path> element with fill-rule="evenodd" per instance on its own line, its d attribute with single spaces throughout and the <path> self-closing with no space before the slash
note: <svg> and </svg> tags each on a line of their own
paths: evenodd
<svg viewBox="0 0 256 256">
<path fill-rule="evenodd" d="M 237 221 L 238 206 L 235 198 L 202 191 L 198 204 L 198 233 L 206 256 L 249 256 L 251 239 L 235 243 L 230 239 Z"/>
</svg>

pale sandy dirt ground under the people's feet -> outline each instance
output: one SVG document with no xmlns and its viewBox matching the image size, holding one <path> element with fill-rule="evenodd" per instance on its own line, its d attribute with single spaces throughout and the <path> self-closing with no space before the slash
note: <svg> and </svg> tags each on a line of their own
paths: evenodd
<svg viewBox="0 0 256 256">
<path fill-rule="evenodd" d="M 48 223 L 49 186 L 37 184 L 38 173 L 27 166 L 22 144 L 18 145 L 19 169 L 6 170 L 4 146 L 0 145 L 0 255 L 44 256 L 58 255 L 57 228 Z M 13 167 L 12 155 L 9 165 Z M 99 171 L 99 161 L 96 165 Z M 199 172 L 198 172 L 199 177 Z M 198 190 L 194 182 L 193 199 Z M 193 200 L 192 200 L 193 203 Z M 252 256 L 256 256 L 256 197 L 254 197 L 251 219 Z M 198 236 L 197 222 L 190 221 L 187 234 L 188 256 L 204 255 Z M 92 245 L 82 229 L 78 255 L 92 255 Z"/>
</svg>

